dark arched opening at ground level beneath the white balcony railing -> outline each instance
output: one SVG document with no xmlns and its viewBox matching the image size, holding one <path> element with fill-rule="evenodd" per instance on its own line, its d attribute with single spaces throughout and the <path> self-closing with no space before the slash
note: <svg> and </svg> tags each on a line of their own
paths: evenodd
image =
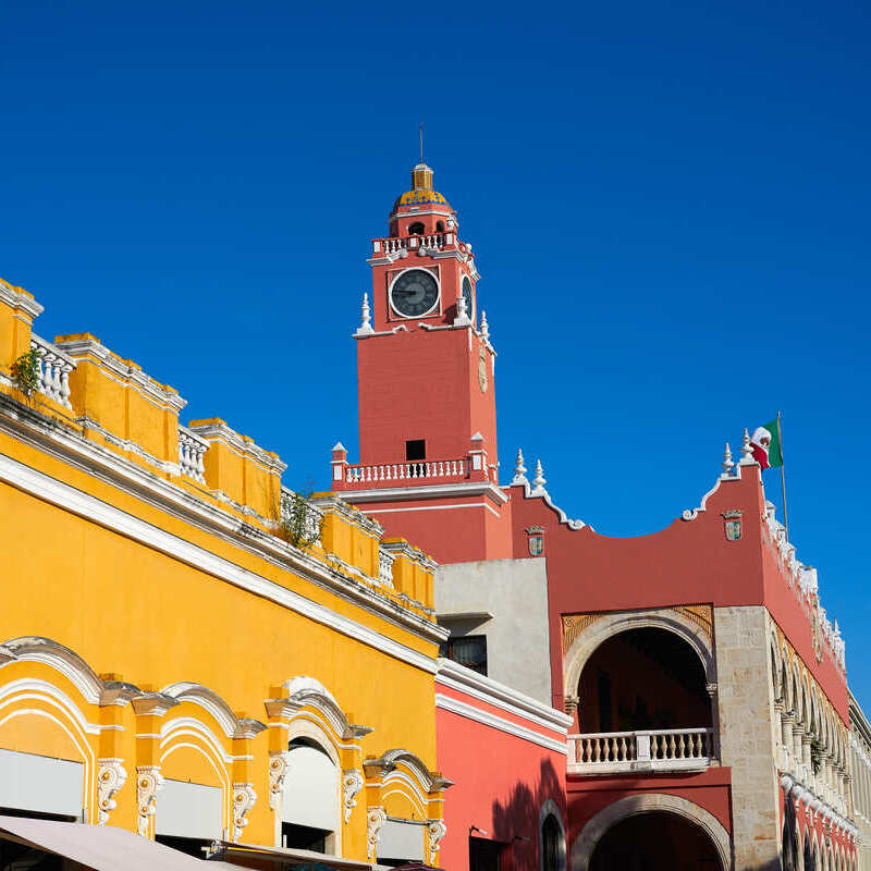
<svg viewBox="0 0 871 871">
<path fill-rule="evenodd" d="M 589 871 L 723 871 L 716 847 L 694 822 L 667 811 L 628 817 L 596 845 Z"/>
</svg>

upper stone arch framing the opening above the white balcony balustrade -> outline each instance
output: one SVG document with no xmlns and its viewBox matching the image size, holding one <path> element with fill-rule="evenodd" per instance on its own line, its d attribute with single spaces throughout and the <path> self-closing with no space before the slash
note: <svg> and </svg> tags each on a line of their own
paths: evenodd
<svg viewBox="0 0 871 871">
<path fill-rule="evenodd" d="M 664 608 L 651 611 L 623 611 L 603 614 L 572 642 L 565 653 L 563 668 L 564 690 L 574 695 L 580 683 L 584 666 L 604 641 L 630 629 L 666 629 L 683 638 L 701 660 L 707 683 L 716 683 L 716 663 L 711 639 L 706 631 L 689 617 L 674 609 Z"/>
</svg>

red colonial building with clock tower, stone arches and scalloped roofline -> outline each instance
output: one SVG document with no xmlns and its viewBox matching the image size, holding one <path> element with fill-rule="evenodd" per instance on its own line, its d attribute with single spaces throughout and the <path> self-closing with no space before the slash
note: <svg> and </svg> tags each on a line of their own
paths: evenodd
<svg viewBox="0 0 871 871">
<path fill-rule="evenodd" d="M 368 262 L 359 457 L 336 444 L 331 487 L 438 561 L 447 657 L 571 717 L 565 756 L 526 784 L 536 824 L 519 838 L 539 846 L 525 867 L 856 867 L 850 748 L 857 770 L 864 720 L 850 713 L 817 572 L 765 501 L 747 432 L 661 532 L 600 536 L 554 504 L 520 452 L 500 480 L 480 274 L 428 167 L 413 170 Z M 454 745 L 440 741 L 440 757 L 455 759 Z M 475 761 L 499 783 L 499 759 Z M 564 780 L 564 799 L 542 794 L 548 778 Z M 446 807 L 451 867 L 532 859 L 494 802 L 476 800 L 462 818 Z M 467 824 L 476 812 L 488 824 Z"/>
</svg>

